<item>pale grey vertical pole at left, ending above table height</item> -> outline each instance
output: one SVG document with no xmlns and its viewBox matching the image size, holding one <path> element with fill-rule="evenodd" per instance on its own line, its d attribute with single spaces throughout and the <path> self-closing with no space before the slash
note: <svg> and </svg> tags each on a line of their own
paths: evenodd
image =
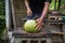
<svg viewBox="0 0 65 43">
<path fill-rule="evenodd" d="M 5 0 L 5 27 L 10 28 L 10 10 L 9 10 L 9 0 Z"/>
</svg>

